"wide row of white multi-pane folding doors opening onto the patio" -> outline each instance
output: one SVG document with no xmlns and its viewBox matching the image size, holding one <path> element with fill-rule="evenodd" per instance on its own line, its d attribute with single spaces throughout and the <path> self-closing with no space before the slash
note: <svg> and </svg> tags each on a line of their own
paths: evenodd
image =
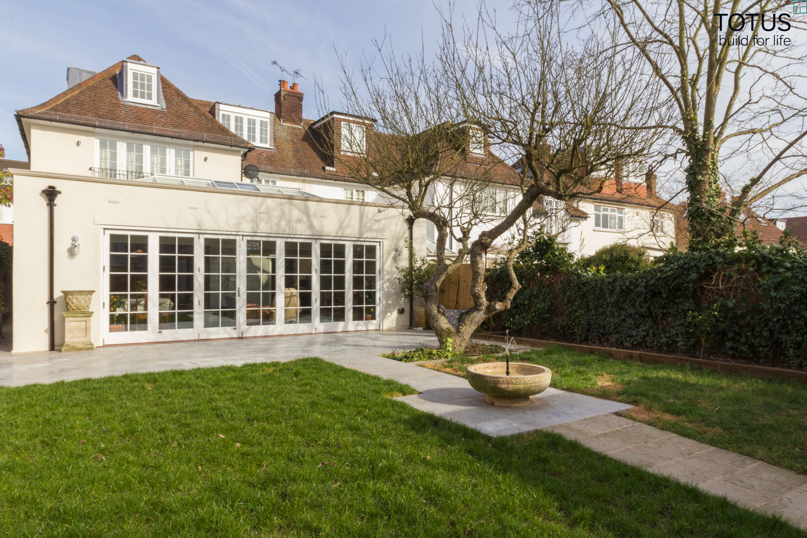
<svg viewBox="0 0 807 538">
<path fill-rule="evenodd" d="M 380 327 L 380 244 L 104 231 L 103 344 Z"/>
</svg>

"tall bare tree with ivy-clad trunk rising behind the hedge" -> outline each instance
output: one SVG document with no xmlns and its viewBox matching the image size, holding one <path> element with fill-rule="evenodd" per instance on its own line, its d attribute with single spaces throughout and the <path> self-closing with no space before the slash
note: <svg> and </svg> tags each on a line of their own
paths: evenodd
<svg viewBox="0 0 807 538">
<path fill-rule="evenodd" d="M 792 18 L 795 3 L 603 5 L 590 22 L 616 24 L 615 50 L 638 52 L 675 106 L 675 121 L 665 127 L 688 160 L 690 248 L 733 240 L 744 206 L 807 173 L 803 36 Z M 729 203 L 721 202 L 721 178 L 735 194 Z"/>
</svg>

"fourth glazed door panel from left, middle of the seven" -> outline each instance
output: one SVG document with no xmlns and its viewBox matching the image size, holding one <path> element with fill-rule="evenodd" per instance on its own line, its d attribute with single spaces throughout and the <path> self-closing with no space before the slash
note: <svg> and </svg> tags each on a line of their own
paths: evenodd
<svg viewBox="0 0 807 538">
<path fill-rule="evenodd" d="M 274 325 L 275 241 L 247 240 L 247 325 Z"/>
</svg>

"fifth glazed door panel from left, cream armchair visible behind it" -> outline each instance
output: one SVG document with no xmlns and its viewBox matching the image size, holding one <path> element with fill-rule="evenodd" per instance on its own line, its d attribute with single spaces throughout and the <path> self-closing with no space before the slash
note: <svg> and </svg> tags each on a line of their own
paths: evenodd
<svg viewBox="0 0 807 538">
<path fill-rule="evenodd" d="M 283 323 L 312 323 L 312 243 L 286 241 Z"/>
</svg>

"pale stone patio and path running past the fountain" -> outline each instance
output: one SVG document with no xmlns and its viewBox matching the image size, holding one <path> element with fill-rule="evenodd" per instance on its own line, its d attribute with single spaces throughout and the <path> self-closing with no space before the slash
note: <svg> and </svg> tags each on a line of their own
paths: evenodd
<svg viewBox="0 0 807 538">
<path fill-rule="evenodd" d="M 0 386 L 322 357 L 406 383 L 420 394 L 397 399 L 489 436 L 536 429 L 555 432 L 742 507 L 780 515 L 807 530 L 805 475 L 613 415 L 630 407 L 624 403 L 550 388 L 534 396 L 527 407 L 493 407 L 461 377 L 378 357 L 390 349 L 435 341 L 428 332 L 385 331 L 145 344 L 95 352 L 0 352 Z"/>
</svg>

